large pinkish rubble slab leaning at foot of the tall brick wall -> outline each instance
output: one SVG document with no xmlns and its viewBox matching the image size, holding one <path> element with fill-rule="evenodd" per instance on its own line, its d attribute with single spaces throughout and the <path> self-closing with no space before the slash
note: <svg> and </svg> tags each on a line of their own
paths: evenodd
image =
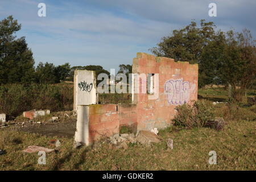
<svg viewBox="0 0 256 182">
<path fill-rule="evenodd" d="M 150 131 L 139 131 L 136 140 L 141 144 L 151 145 L 151 143 L 158 143 L 160 140 L 158 139 L 158 135 L 152 133 Z"/>
</svg>

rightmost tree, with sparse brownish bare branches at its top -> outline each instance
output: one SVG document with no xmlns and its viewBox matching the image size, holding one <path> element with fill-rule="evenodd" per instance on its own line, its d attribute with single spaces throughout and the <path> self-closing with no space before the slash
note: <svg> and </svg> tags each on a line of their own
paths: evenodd
<svg viewBox="0 0 256 182">
<path fill-rule="evenodd" d="M 226 45 L 220 65 L 220 77 L 225 84 L 232 86 L 232 97 L 236 101 L 242 100 L 246 89 L 251 88 L 256 78 L 256 49 L 255 40 L 250 30 L 241 33 L 228 31 Z"/>
</svg>

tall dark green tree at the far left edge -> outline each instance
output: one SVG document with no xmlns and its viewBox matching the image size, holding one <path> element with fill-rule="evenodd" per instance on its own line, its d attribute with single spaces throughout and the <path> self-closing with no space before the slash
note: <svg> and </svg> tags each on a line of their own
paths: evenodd
<svg viewBox="0 0 256 182">
<path fill-rule="evenodd" d="M 16 39 L 21 24 L 13 16 L 0 22 L 0 84 L 34 81 L 32 51 L 24 37 Z"/>
</svg>

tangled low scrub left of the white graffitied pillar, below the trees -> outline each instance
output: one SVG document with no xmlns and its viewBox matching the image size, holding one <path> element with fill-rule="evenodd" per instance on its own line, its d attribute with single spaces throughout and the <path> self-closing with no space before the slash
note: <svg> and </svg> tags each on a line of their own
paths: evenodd
<svg viewBox="0 0 256 182">
<path fill-rule="evenodd" d="M 73 86 L 70 84 L 10 84 L 0 86 L 0 113 L 16 117 L 23 111 L 73 109 Z"/>
</svg>

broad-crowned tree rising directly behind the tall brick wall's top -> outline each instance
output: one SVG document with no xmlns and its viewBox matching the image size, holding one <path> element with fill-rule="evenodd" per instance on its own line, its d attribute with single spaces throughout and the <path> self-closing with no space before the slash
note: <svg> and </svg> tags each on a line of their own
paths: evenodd
<svg viewBox="0 0 256 182">
<path fill-rule="evenodd" d="M 207 46 L 215 34 L 213 22 L 205 23 L 202 19 L 200 28 L 196 22 L 191 22 L 185 28 L 172 31 L 171 36 L 162 38 L 158 47 L 151 48 L 151 52 L 156 56 L 170 57 L 176 61 L 188 61 L 189 63 L 199 63 L 201 52 Z"/>
</svg>

